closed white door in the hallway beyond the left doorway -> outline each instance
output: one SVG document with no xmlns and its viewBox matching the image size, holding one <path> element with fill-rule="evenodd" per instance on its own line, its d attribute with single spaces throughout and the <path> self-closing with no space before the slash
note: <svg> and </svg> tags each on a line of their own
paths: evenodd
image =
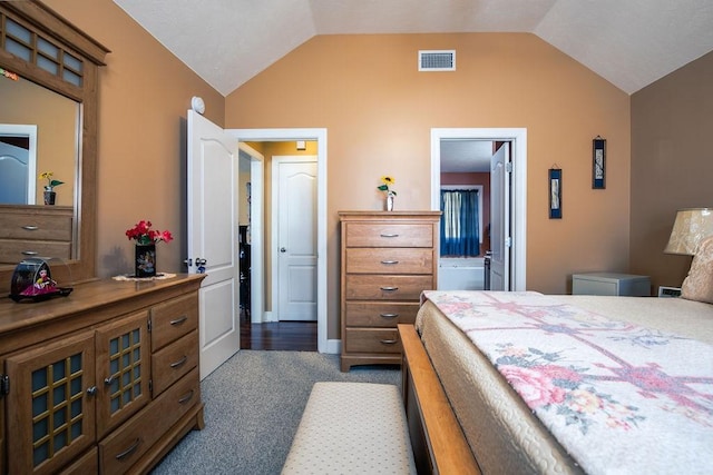
<svg viewBox="0 0 713 475">
<path fill-rule="evenodd" d="M 273 172 L 277 319 L 316 321 L 316 157 L 273 157 Z"/>
</svg>

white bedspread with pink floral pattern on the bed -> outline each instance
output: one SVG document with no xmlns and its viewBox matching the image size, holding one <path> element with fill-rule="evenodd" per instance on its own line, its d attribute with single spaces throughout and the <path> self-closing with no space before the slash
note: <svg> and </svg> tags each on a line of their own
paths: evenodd
<svg viewBox="0 0 713 475">
<path fill-rule="evenodd" d="M 423 298 L 468 335 L 585 472 L 713 473 L 711 345 L 537 293 Z"/>
</svg>

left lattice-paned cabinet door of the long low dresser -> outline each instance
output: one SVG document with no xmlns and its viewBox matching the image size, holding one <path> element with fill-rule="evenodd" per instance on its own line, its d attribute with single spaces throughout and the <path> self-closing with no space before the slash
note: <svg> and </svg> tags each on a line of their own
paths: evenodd
<svg viewBox="0 0 713 475">
<path fill-rule="evenodd" d="M 94 444 L 94 331 L 56 339 L 6 359 L 11 474 L 49 474 Z"/>
</svg>

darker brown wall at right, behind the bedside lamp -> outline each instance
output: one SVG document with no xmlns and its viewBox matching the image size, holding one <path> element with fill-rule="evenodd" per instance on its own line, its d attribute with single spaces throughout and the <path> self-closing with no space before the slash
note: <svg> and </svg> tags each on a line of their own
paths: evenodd
<svg viewBox="0 0 713 475">
<path fill-rule="evenodd" d="M 632 96 L 632 270 L 680 287 L 691 257 L 663 254 L 681 208 L 713 207 L 713 53 Z"/>
</svg>

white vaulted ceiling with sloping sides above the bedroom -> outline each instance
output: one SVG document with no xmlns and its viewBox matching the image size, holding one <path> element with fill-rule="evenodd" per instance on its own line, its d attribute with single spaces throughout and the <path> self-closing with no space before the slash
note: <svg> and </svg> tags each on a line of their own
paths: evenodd
<svg viewBox="0 0 713 475">
<path fill-rule="evenodd" d="M 227 96 L 315 34 L 530 32 L 627 93 L 713 50 L 712 0 L 114 0 Z"/>
</svg>

